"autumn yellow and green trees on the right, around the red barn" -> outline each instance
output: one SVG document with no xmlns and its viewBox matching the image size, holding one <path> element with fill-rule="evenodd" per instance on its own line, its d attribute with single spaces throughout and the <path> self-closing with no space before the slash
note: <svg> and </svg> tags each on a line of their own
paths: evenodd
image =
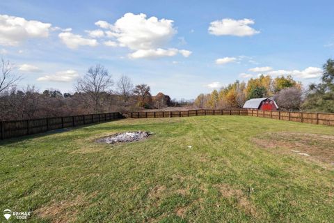
<svg viewBox="0 0 334 223">
<path fill-rule="evenodd" d="M 334 112 L 334 60 L 323 66 L 320 84 L 310 84 L 303 89 L 291 75 L 272 78 L 260 75 L 247 83 L 235 81 L 219 91 L 200 94 L 194 101 L 199 108 L 242 108 L 251 98 L 273 98 L 278 107 L 289 111 Z"/>
</svg>

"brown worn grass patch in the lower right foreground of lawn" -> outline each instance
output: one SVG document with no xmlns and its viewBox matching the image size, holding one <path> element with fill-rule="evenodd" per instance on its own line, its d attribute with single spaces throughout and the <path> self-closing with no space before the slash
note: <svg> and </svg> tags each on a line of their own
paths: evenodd
<svg viewBox="0 0 334 223">
<path fill-rule="evenodd" d="M 250 202 L 245 192 L 242 190 L 233 189 L 230 187 L 230 185 L 226 184 L 216 185 L 216 188 L 226 199 L 230 200 L 231 202 L 237 201 L 238 208 L 244 210 L 246 214 L 257 217 L 258 213 L 256 208 L 253 203 Z"/>
</svg>

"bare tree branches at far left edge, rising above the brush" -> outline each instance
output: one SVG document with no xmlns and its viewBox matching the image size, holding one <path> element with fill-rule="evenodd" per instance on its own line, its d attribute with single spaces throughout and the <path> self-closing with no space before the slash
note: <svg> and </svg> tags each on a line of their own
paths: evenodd
<svg viewBox="0 0 334 223">
<path fill-rule="evenodd" d="M 21 79 L 20 76 L 15 76 L 12 74 L 13 64 L 10 61 L 4 61 L 1 59 L 1 74 L 0 74 L 0 94 L 3 91 L 7 91 L 13 88 L 17 82 Z"/>
</svg>

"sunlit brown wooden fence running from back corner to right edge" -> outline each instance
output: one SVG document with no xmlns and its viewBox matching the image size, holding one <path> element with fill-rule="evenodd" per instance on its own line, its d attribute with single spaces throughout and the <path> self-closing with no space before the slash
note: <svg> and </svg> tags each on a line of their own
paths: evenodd
<svg viewBox="0 0 334 223">
<path fill-rule="evenodd" d="M 334 113 L 310 112 L 271 112 L 257 109 L 197 109 L 173 112 L 130 112 L 124 114 L 127 118 L 173 118 L 206 115 L 240 115 L 273 118 L 285 121 L 312 123 L 320 125 L 334 125 Z"/>
</svg>

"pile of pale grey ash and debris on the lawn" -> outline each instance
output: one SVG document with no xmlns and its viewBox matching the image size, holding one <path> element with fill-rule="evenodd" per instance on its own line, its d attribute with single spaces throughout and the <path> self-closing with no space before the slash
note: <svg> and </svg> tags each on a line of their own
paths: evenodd
<svg viewBox="0 0 334 223">
<path fill-rule="evenodd" d="M 131 141 L 140 141 L 153 134 L 153 132 L 120 132 L 116 134 L 112 134 L 109 137 L 105 137 L 102 139 L 97 139 L 97 142 L 103 142 L 106 144 L 116 144 L 118 142 L 131 142 Z"/>
</svg>

